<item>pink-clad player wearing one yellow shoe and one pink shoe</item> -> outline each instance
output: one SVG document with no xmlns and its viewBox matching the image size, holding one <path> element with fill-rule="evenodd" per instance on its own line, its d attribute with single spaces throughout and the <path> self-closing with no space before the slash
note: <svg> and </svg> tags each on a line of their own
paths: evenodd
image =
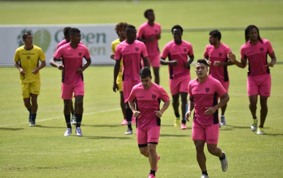
<svg viewBox="0 0 283 178">
<path fill-rule="evenodd" d="M 169 86 L 172 95 L 172 105 L 175 112 L 174 127 L 180 125 L 179 98 L 182 100 L 182 125 L 181 129 L 187 129 L 185 114 L 187 110 L 188 83 L 190 77 L 190 64 L 194 60 L 193 46 L 182 40 L 183 29 L 175 25 L 171 29 L 174 40 L 168 42 L 162 51 L 160 63 L 169 67 Z M 189 56 L 189 60 L 188 60 Z M 165 59 L 168 57 L 168 61 Z"/>
</svg>

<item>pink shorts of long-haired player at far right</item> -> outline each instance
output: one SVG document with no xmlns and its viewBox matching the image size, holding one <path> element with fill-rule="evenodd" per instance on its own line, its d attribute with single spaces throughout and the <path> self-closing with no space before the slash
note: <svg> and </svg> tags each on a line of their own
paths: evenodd
<svg viewBox="0 0 283 178">
<path fill-rule="evenodd" d="M 270 74 L 247 77 L 247 91 L 249 97 L 252 95 L 270 97 L 270 90 L 271 90 Z"/>
</svg>

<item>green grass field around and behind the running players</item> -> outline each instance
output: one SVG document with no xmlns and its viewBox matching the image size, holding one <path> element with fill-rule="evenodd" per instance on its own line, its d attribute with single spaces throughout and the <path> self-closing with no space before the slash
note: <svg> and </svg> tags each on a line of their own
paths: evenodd
<svg viewBox="0 0 283 178">
<path fill-rule="evenodd" d="M 78 24 L 127 21 L 139 26 L 142 14 L 153 8 L 163 29 L 175 24 L 183 28 L 243 27 L 255 24 L 263 38 L 271 41 L 278 64 L 271 68 L 272 89 L 265 134 L 250 130 L 251 114 L 246 96 L 246 71 L 229 66 L 230 101 L 226 111 L 227 126 L 220 130 L 219 147 L 226 152 L 228 170 L 223 173 L 218 158 L 205 149 L 210 178 L 281 178 L 283 177 L 283 30 L 261 27 L 283 26 L 282 0 L 141 0 L 133 1 L 0 1 L 0 24 Z M 117 10 L 119 9 L 119 11 Z M 27 14 L 28 16 L 24 16 Z M 28 17 L 28 20 L 21 17 Z M 186 32 L 183 40 L 194 46 L 195 59 L 202 58 L 208 44 L 208 32 Z M 172 40 L 163 33 L 160 48 Z M 222 31 L 239 59 L 244 32 Z M 49 61 L 51 57 L 47 57 Z M 12 60 L 12 59 L 9 59 Z M 95 60 L 95 59 L 93 59 Z M 0 177 L 9 178 L 146 178 L 148 160 L 138 150 L 136 132 L 125 136 L 121 126 L 119 94 L 112 91 L 113 66 L 91 66 L 84 72 L 85 98 L 82 119 L 83 137 L 75 133 L 64 137 L 63 101 L 60 99 L 61 74 L 45 67 L 37 126 L 28 126 L 28 112 L 20 92 L 19 73 L 15 67 L 0 68 Z M 161 67 L 161 85 L 169 93 L 168 69 Z M 191 71 L 192 79 L 196 77 Z M 258 116 L 260 105 L 258 104 Z M 162 117 L 161 155 L 158 178 L 199 178 L 200 168 L 188 129 L 173 127 L 170 106 Z"/>
</svg>

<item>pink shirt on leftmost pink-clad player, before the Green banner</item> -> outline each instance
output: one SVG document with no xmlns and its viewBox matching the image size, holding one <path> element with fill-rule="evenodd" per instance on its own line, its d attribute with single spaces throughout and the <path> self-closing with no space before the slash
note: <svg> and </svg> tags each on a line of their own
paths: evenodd
<svg viewBox="0 0 283 178">
<path fill-rule="evenodd" d="M 62 58 L 62 82 L 73 84 L 83 81 L 83 75 L 77 73 L 77 69 L 82 67 L 82 58 L 90 59 L 89 51 L 83 44 L 78 44 L 76 49 L 70 43 L 64 44 L 56 50 L 54 58 Z"/>
</svg>

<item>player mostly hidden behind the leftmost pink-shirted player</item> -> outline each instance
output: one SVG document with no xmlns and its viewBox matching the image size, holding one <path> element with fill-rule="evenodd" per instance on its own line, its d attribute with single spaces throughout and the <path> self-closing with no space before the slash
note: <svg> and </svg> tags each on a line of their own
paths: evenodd
<svg viewBox="0 0 283 178">
<path fill-rule="evenodd" d="M 65 27 L 63 29 L 63 33 L 64 33 L 64 40 L 61 40 L 58 45 L 57 45 L 57 48 L 56 50 L 64 45 L 64 44 L 67 44 L 68 42 L 70 42 L 70 37 L 69 37 L 69 31 L 70 31 L 71 27 Z M 82 44 L 82 42 L 80 42 Z M 61 61 L 62 59 L 60 58 L 59 61 Z M 71 99 L 71 103 L 70 103 L 70 112 L 72 114 L 72 119 L 71 119 L 71 124 L 77 124 L 77 118 L 76 118 L 76 100 L 75 100 L 75 103 L 74 103 L 74 106 L 73 106 L 73 100 Z M 74 109 L 75 108 L 75 109 Z"/>
</svg>

